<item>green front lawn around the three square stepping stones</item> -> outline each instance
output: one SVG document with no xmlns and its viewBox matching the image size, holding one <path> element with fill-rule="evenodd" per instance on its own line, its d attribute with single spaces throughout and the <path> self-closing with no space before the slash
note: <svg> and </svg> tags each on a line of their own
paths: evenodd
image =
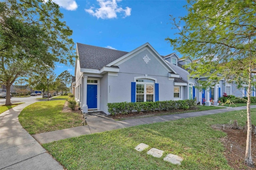
<svg viewBox="0 0 256 170">
<path fill-rule="evenodd" d="M 256 124 L 256 109 L 252 109 L 252 124 Z M 245 125 L 246 112 L 233 111 L 216 115 L 193 117 L 123 128 L 108 132 L 59 140 L 43 146 L 68 170 L 228 170 L 220 138 L 225 133 L 213 130 L 211 125 L 229 124 L 237 120 Z M 134 148 L 141 142 L 150 148 L 164 150 L 161 158 L 154 158 L 146 151 Z M 163 160 L 167 154 L 184 158 L 182 164 L 174 165 Z"/>
</svg>

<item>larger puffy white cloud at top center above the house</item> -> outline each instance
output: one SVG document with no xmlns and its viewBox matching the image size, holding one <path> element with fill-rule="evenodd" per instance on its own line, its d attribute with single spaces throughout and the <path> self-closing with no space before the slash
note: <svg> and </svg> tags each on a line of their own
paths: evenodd
<svg viewBox="0 0 256 170">
<path fill-rule="evenodd" d="M 118 2 L 121 0 L 118 0 Z M 132 8 L 126 7 L 123 9 L 118 6 L 116 0 L 97 0 L 100 5 L 100 8 L 94 8 L 91 6 L 89 9 L 85 9 L 86 12 L 92 16 L 96 16 L 98 19 L 111 19 L 117 18 L 117 13 L 122 13 L 125 18 L 126 16 L 131 15 Z"/>
</svg>

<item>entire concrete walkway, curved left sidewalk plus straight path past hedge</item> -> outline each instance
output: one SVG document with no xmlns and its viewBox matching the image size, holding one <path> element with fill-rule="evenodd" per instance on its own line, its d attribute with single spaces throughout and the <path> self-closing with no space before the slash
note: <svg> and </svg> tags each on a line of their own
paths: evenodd
<svg viewBox="0 0 256 170">
<path fill-rule="evenodd" d="M 22 109 L 32 103 L 34 102 L 18 105 L 0 115 L 0 170 L 63 170 L 63 167 L 38 142 L 48 143 L 83 134 L 246 109 L 246 107 L 224 108 L 124 121 L 114 121 L 108 115 L 93 112 L 86 114 L 88 125 L 34 134 L 33 138 L 18 121 Z M 251 108 L 256 108 L 256 105 Z"/>
</svg>

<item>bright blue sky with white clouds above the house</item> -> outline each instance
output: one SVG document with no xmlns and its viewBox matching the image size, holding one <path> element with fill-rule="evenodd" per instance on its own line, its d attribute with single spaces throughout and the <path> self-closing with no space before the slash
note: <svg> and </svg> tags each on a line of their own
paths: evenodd
<svg viewBox="0 0 256 170">
<path fill-rule="evenodd" d="M 132 51 L 148 42 L 160 55 L 174 51 L 164 39 L 175 38 L 170 16 L 187 14 L 185 0 L 52 0 L 73 30 L 74 43 Z M 180 56 L 182 57 L 182 56 Z M 56 65 L 58 76 L 74 66 Z"/>
</svg>

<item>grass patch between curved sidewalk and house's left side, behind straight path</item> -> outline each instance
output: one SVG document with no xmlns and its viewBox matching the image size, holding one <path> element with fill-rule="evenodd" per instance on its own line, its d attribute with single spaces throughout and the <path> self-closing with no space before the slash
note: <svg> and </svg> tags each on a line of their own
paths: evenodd
<svg viewBox="0 0 256 170">
<path fill-rule="evenodd" d="M 62 112 L 65 100 L 42 101 L 29 105 L 18 116 L 30 134 L 82 126 L 80 113 Z"/>
</svg>

